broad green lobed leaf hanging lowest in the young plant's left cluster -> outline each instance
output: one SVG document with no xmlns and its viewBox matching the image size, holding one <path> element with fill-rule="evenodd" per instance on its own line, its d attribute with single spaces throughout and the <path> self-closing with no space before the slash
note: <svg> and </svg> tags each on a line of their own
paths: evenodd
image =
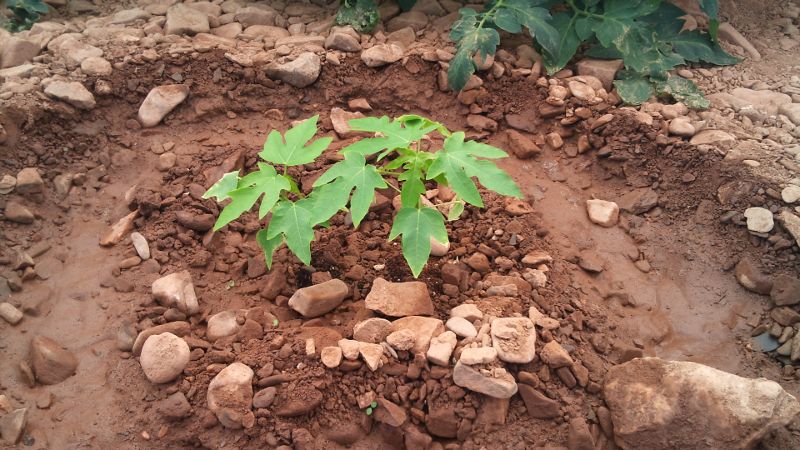
<svg viewBox="0 0 800 450">
<path fill-rule="evenodd" d="M 311 241 L 314 240 L 314 223 L 311 202 L 307 199 L 292 202 L 282 199 L 272 211 L 272 219 L 265 236 L 266 241 L 283 236 L 286 245 L 304 264 L 311 264 Z"/>
</svg>

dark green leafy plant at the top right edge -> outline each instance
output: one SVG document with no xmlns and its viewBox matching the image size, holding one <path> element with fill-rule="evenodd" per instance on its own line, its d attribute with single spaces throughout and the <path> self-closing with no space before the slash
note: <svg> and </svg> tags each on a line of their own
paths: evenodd
<svg viewBox="0 0 800 450">
<path fill-rule="evenodd" d="M 680 17 L 686 13 L 661 0 L 493 0 L 483 12 L 462 8 L 450 32 L 456 54 L 448 82 L 456 90 L 466 85 L 475 72 L 473 57 L 483 60 L 495 53 L 498 30 L 527 29 L 550 74 L 586 45 L 588 56 L 623 60 L 626 70 L 616 86 L 625 102 L 639 104 L 664 94 L 703 108 L 708 103 L 694 83 L 667 72 L 687 62 L 726 65 L 738 59 L 716 41 L 717 1 L 701 0 L 700 6 L 710 18 L 708 33 L 683 30 Z"/>
</svg>

